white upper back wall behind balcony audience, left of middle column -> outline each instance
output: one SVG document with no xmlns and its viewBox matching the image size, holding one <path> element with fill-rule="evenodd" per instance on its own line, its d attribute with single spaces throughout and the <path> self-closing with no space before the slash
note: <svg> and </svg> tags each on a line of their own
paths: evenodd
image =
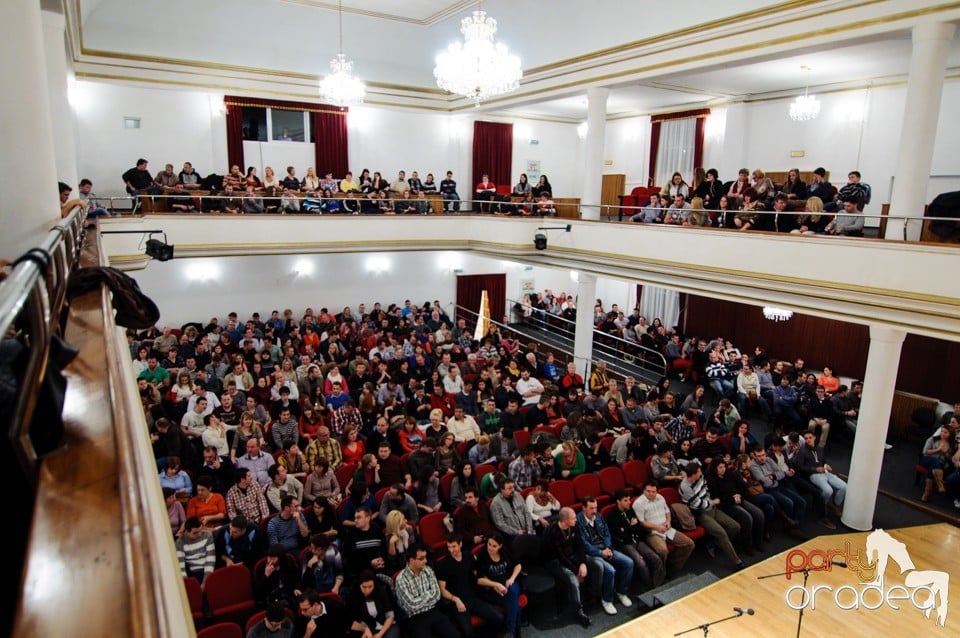
<svg viewBox="0 0 960 638">
<path fill-rule="evenodd" d="M 150 161 L 154 174 L 167 162 L 179 171 L 185 161 L 192 162 L 201 175 L 227 170 L 221 95 L 81 80 L 71 87 L 71 103 L 80 175 L 93 180 L 99 195 L 122 195 L 120 175 L 139 157 Z M 139 117 L 141 128 L 124 129 L 126 116 Z M 461 197 L 473 191 L 472 116 L 361 105 L 351 109 L 348 126 L 348 160 L 355 175 L 369 168 L 392 181 L 399 170 L 407 175 L 418 171 L 421 178 L 433 173 L 439 183 L 452 170 Z M 531 145 L 531 139 L 539 144 Z M 541 172 L 555 186 L 555 196 L 579 197 L 581 155 L 576 125 L 518 119 L 511 180 L 519 179 L 527 160 L 539 160 Z M 293 165 L 302 177 L 313 165 L 313 157 L 311 144 L 245 142 L 242 168 L 256 166 L 262 176 L 269 164 L 282 177 L 285 167 Z"/>
</svg>

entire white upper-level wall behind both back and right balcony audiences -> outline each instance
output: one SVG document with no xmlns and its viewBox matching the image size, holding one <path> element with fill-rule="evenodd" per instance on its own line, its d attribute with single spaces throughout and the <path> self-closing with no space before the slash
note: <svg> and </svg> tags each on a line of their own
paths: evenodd
<svg viewBox="0 0 960 638">
<path fill-rule="evenodd" d="M 820 117 L 812 122 L 790 120 L 789 100 L 716 107 L 707 119 L 704 165 L 716 167 L 725 181 L 733 179 L 742 166 L 771 171 L 824 166 L 838 185 L 845 183 L 847 171 L 856 168 L 873 187 L 870 209 L 879 210 L 890 198 L 905 95 L 904 85 L 820 95 Z M 71 89 L 71 102 L 76 113 L 80 173 L 94 181 L 101 195 L 122 193 L 120 175 L 138 157 L 149 159 L 154 173 L 166 162 L 179 170 L 188 160 L 202 174 L 226 169 L 221 96 L 78 81 Z M 948 81 L 934 149 L 934 175 L 960 173 L 955 160 L 960 123 L 953 117 L 958 102 L 960 82 Z M 140 117 L 141 128 L 124 129 L 124 116 Z M 473 119 L 470 115 L 354 107 L 349 116 L 351 169 L 355 174 L 364 167 L 379 170 L 387 179 L 393 179 L 400 169 L 408 174 L 417 170 L 421 177 L 432 172 L 437 181 L 449 169 L 460 183 L 461 196 L 467 197 L 472 191 L 468 182 Z M 576 125 L 533 119 L 515 119 L 513 124 L 512 181 L 525 170 L 528 160 L 539 160 L 541 172 L 554 184 L 555 196 L 579 197 L 584 144 Z M 646 184 L 649 136 L 646 116 L 607 124 L 604 159 L 612 163 L 604 172 L 626 174 L 627 192 Z M 530 140 L 539 143 L 530 144 Z M 291 151 L 289 156 L 299 175 L 313 163 L 309 146 L 303 145 L 299 154 Z M 791 158 L 791 151 L 803 151 L 805 157 Z M 247 164 L 257 165 L 255 156 L 248 159 Z M 270 161 L 277 169 L 288 163 L 286 159 L 272 155 Z M 259 168 L 262 174 L 262 166 Z M 277 172 L 282 174 L 282 168 Z M 931 185 L 931 191 L 956 185 L 955 180 L 943 178 Z"/>
</svg>

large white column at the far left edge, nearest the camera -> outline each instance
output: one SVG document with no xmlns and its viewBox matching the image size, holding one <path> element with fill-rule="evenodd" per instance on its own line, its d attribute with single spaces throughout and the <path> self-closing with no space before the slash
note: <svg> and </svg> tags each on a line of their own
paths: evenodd
<svg viewBox="0 0 960 638">
<path fill-rule="evenodd" d="M 4 217 L 0 255 L 16 258 L 39 243 L 60 219 L 43 29 L 36 0 L 0 2 L 0 60 L 5 79 L 0 95 Z"/>
</svg>

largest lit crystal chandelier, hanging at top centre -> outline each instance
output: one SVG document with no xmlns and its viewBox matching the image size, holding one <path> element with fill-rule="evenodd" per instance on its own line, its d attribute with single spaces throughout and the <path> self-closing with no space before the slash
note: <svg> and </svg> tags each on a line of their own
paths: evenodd
<svg viewBox="0 0 960 638">
<path fill-rule="evenodd" d="M 494 43 L 497 21 L 487 17 L 482 2 L 479 6 L 460 22 L 464 41 L 439 54 L 433 69 L 441 89 L 463 95 L 477 106 L 481 100 L 515 91 L 523 77 L 520 58 L 503 43 Z"/>
</svg>

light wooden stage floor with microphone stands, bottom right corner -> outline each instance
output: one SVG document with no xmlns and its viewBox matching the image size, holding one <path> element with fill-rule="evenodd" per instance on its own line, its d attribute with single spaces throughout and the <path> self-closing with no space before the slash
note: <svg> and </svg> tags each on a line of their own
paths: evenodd
<svg viewBox="0 0 960 638">
<path fill-rule="evenodd" d="M 867 543 L 875 549 L 872 555 L 880 560 L 867 557 Z M 803 565 L 822 566 L 826 553 L 832 553 L 834 560 L 845 561 L 848 566 L 833 564 L 829 570 L 809 572 L 806 592 L 817 588 L 811 605 L 809 594 L 802 590 Z M 874 579 L 884 557 L 887 557 L 886 567 L 881 574 L 882 582 L 878 583 Z M 760 578 L 786 572 L 788 560 L 796 570 L 789 580 L 784 575 Z M 751 608 L 755 614 L 744 614 L 711 626 L 709 636 L 796 636 L 800 616 L 796 609 L 805 602 L 800 636 L 957 636 L 960 635 L 960 609 L 955 597 L 949 602 L 944 598 L 946 604 L 942 607 L 937 597 L 930 618 L 925 618 L 920 609 L 930 593 L 931 586 L 926 583 L 936 583 L 932 587 L 942 589 L 951 574 L 954 591 L 960 591 L 960 529 L 947 523 L 822 536 L 644 614 L 603 636 L 673 636 L 734 615 L 735 607 Z M 949 587 L 946 589 L 949 591 Z M 855 608 L 858 603 L 859 608 Z M 945 619 L 943 627 L 937 624 L 938 610 Z M 684 634 L 689 638 L 703 635 L 702 628 Z"/>
</svg>

